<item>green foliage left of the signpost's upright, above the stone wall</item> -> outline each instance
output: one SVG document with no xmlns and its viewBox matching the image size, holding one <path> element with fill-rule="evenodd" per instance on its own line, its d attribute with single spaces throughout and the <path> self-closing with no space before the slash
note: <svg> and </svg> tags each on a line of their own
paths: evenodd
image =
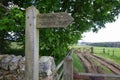
<svg viewBox="0 0 120 80">
<path fill-rule="evenodd" d="M 9 2 L 10 3 L 10 2 Z M 11 40 L 21 40 L 24 35 L 24 12 L 19 7 L 0 3 L 0 52 L 9 49 Z M 12 35 L 11 35 L 12 34 Z"/>
</svg>

